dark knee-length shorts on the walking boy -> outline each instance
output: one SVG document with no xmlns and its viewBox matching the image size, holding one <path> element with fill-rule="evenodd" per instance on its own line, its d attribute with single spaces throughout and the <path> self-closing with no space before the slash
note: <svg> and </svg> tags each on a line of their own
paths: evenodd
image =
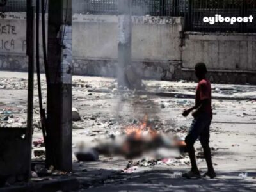
<svg viewBox="0 0 256 192">
<path fill-rule="evenodd" d="M 186 142 L 195 143 L 199 138 L 201 143 L 209 143 L 211 121 L 212 115 L 207 113 L 202 113 L 194 118 L 186 136 Z"/>
</svg>

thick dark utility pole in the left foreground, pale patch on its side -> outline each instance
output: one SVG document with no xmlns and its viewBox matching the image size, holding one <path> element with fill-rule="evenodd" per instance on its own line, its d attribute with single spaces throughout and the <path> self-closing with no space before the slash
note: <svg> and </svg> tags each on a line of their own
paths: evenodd
<svg viewBox="0 0 256 192">
<path fill-rule="evenodd" d="M 47 156 L 54 169 L 72 170 L 72 0 L 49 0 Z"/>
</svg>

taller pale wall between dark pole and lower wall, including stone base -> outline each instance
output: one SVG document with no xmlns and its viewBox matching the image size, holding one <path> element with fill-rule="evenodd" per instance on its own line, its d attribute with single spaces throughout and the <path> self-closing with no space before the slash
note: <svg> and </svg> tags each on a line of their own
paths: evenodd
<svg viewBox="0 0 256 192">
<path fill-rule="evenodd" d="M 72 28 L 74 72 L 115 77 L 118 17 L 74 15 Z M 177 76 L 183 28 L 182 17 L 132 17 L 132 64 L 142 77 Z"/>
</svg>

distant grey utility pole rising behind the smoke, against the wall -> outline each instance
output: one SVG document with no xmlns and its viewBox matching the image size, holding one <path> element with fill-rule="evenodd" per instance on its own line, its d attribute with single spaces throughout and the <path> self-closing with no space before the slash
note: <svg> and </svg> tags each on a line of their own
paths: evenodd
<svg viewBox="0 0 256 192">
<path fill-rule="evenodd" d="M 131 65 L 131 0 L 118 0 L 118 86 L 129 87 L 125 70 Z"/>
</svg>

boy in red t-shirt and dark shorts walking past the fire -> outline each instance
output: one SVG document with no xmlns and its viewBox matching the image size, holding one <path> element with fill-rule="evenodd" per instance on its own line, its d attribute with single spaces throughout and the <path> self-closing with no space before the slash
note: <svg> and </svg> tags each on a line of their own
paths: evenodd
<svg viewBox="0 0 256 192">
<path fill-rule="evenodd" d="M 182 113 L 183 116 L 188 116 L 193 110 L 192 116 L 194 120 L 186 136 L 185 142 L 188 149 L 189 159 L 191 161 L 191 170 L 183 174 L 186 178 L 199 178 L 201 177 L 198 167 L 196 165 L 195 157 L 195 141 L 199 138 L 200 143 L 204 149 L 204 156 L 207 163 L 208 171 L 204 173 L 203 177 L 216 177 L 214 168 L 212 166 L 211 149 L 209 147 L 210 138 L 210 125 L 212 120 L 212 107 L 211 107 L 211 83 L 205 78 L 207 68 L 204 63 L 197 63 L 195 65 L 195 75 L 198 78 L 198 85 L 196 87 L 195 106 L 187 109 Z"/>
</svg>

